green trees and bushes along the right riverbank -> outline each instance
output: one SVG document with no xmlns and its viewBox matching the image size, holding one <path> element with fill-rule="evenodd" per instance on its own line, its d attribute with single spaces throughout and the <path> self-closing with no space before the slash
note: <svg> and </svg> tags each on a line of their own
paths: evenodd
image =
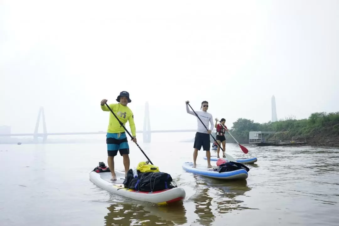
<svg viewBox="0 0 339 226">
<path fill-rule="evenodd" d="M 256 123 L 250 119 L 239 118 L 230 129 L 239 143 L 248 143 L 250 131 L 275 131 L 266 137 L 270 140 L 306 139 L 310 145 L 339 146 L 339 111 L 315 112 L 307 119 L 297 120 L 295 117 L 277 122 Z M 226 133 L 226 142 L 235 143 Z"/>
</svg>

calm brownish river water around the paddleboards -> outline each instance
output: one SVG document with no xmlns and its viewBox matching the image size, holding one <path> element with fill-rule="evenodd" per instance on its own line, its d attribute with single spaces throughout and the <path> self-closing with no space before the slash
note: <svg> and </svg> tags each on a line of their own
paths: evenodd
<svg viewBox="0 0 339 226">
<path fill-rule="evenodd" d="M 247 180 L 227 182 L 182 170 L 183 162 L 193 161 L 193 143 L 139 145 L 185 189 L 182 203 L 156 206 L 94 185 L 88 174 L 98 162 L 107 163 L 105 140 L 0 145 L 0 225 L 339 225 L 338 149 L 244 145 L 245 155 L 226 144 L 235 158 L 258 158 L 247 165 Z M 145 158 L 130 147 L 135 167 Z M 198 164 L 207 165 L 204 155 L 199 151 Z M 123 170 L 120 155 L 116 169 Z"/>
</svg>

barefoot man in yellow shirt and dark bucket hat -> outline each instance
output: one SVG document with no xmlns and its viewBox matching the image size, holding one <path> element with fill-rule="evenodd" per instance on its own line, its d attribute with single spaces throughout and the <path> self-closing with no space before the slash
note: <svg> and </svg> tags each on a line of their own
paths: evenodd
<svg viewBox="0 0 339 226">
<path fill-rule="evenodd" d="M 134 124 L 134 116 L 133 112 L 129 107 L 127 107 L 127 103 L 131 103 L 131 99 L 129 99 L 129 93 L 127 91 L 120 92 L 120 95 L 117 97 L 116 101 L 118 104 L 109 104 L 108 106 L 112 109 L 114 114 L 118 117 L 118 119 L 125 126 L 126 122 L 129 122 L 129 126 L 131 127 L 132 132 L 132 141 L 137 142 L 137 138 L 135 136 L 135 124 Z M 101 109 L 103 111 L 110 111 L 108 107 L 105 105 L 107 102 L 106 99 L 103 99 L 100 103 Z M 114 171 L 114 156 L 118 154 L 118 150 L 120 155 L 123 157 L 123 163 L 125 167 L 125 177 L 127 176 L 127 171 L 129 170 L 129 146 L 126 137 L 126 132 L 122 126 L 120 126 L 119 121 L 112 114 L 109 114 L 109 124 L 107 128 L 106 135 L 106 144 L 107 144 L 107 164 L 112 173 L 111 181 L 116 181 L 117 176 Z"/>
</svg>

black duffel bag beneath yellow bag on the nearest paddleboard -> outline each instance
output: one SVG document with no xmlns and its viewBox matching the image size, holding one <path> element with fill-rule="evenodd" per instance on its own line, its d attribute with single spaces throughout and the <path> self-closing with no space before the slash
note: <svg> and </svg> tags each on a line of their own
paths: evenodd
<svg viewBox="0 0 339 226">
<path fill-rule="evenodd" d="M 129 169 L 123 182 L 125 188 L 138 191 L 161 191 L 177 187 L 172 177 L 164 172 L 138 172 L 138 177 L 133 177 L 133 170 Z"/>
</svg>

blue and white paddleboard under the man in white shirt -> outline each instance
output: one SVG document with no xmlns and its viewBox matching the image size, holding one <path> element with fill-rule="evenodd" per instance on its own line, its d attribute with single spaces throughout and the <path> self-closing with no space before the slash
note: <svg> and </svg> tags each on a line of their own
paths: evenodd
<svg viewBox="0 0 339 226">
<path fill-rule="evenodd" d="M 190 173 L 194 173 L 204 177 L 210 177 L 221 180 L 237 180 L 237 179 L 246 179 L 248 173 L 244 169 L 238 169 L 229 172 L 218 172 L 214 171 L 213 168 L 207 168 L 206 166 L 197 165 L 196 168 L 193 168 L 193 162 L 185 162 L 182 164 L 182 168 Z"/>
</svg>

